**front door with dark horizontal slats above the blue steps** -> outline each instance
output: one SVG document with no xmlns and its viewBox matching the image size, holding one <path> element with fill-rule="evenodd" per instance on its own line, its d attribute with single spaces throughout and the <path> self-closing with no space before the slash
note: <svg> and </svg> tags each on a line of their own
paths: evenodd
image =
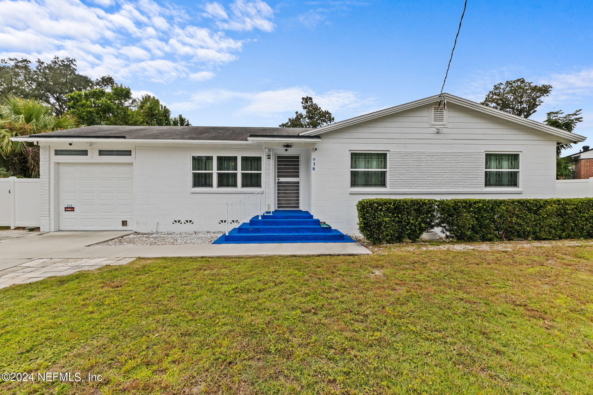
<svg viewBox="0 0 593 395">
<path fill-rule="evenodd" d="M 301 208 L 301 158 L 297 155 L 276 156 L 276 208 Z"/>
</svg>

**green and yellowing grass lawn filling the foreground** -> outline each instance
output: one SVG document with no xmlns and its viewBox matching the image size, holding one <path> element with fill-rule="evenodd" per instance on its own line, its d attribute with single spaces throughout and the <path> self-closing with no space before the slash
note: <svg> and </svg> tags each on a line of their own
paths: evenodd
<svg viewBox="0 0 593 395">
<path fill-rule="evenodd" d="M 593 247 L 138 259 L 0 290 L 24 394 L 591 394 Z"/>
</svg>

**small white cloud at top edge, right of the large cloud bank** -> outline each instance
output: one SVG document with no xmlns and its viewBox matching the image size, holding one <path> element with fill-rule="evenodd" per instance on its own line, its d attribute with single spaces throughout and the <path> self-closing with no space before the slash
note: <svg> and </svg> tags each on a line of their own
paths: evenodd
<svg viewBox="0 0 593 395">
<path fill-rule="evenodd" d="M 229 6 L 229 12 L 216 2 L 206 4 L 204 8 L 205 15 L 214 18 L 216 26 L 223 30 L 272 31 L 275 27 L 270 21 L 274 17 L 272 8 L 261 0 L 235 0 Z"/>
</svg>

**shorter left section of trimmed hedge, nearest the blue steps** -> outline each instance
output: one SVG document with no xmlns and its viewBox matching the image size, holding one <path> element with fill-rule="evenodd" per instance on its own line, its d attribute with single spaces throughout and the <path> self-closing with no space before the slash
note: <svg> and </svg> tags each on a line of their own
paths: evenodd
<svg viewBox="0 0 593 395">
<path fill-rule="evenodd" d="M 364 199 L 356 204 L 358 227 L 373 244 L 417 240 L 436 223 L 434 199 Z"/>
</svg>

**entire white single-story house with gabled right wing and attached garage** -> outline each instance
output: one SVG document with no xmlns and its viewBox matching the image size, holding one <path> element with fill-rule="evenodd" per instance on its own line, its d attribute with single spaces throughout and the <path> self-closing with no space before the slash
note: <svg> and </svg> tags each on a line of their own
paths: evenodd
<svg viewBox="0 0 593 395">
<path fill-rule="evenodd" d="M 225 230 L 304 210 L 357 234 L 365 198 L 556 196 L 556 145 L 585 137 L 444 99 L 318 129 L 88 126 L 13 140 L 40 146 L 42 231 Z"/>
</svg>

